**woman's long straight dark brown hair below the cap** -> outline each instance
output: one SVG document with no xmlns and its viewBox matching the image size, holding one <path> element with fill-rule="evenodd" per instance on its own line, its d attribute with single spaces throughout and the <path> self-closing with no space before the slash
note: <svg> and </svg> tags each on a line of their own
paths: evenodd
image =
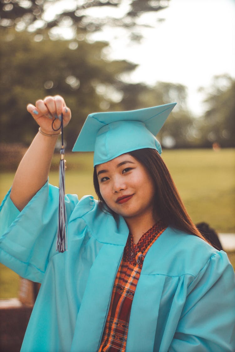
<svg viewBox="0 0 235 352">
<path fill-rule="evenodd" d="M 144 148 L 131 151 L 127 154 L 134 157 L 146 168 L 154 182 L 155 218 L 160 217 L 167 226 L 196 235 L 205 240 L 188 215 L 174 181 L 159 153 L 155 149 Z M 107 207 L 101 196 L 96 168 L 94 168 L 93 182 L 101 209 L 109 211 L 115 216 L 115 213 Z"/>
</svg>

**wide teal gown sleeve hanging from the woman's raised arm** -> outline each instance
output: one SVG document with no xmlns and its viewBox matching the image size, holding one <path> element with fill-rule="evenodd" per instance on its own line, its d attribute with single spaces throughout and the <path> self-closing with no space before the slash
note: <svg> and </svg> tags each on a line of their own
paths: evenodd
<svg viewBox="0 0 235 352">
<path fill-rule="evenodd" d="M 58 188 L 48 182 L 19 212 L 10 191 L 0 207 L 0 262 L 20 276 L 42 282 L 50 257 L 56 252 Z M 78 197 L 66 195 L 69 220 Z"/>
</svg>

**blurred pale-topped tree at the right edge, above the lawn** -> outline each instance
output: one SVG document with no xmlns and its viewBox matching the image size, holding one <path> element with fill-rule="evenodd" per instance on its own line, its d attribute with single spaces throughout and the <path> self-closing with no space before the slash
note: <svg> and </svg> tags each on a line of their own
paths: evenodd
<svg viewBox="0 0 235 352">
<path fill-rule="evenodd" d="M 235 147 L 235 80 L 228 75 L 214 76 L 211 86 L 200 90 L 206 94 L 207 107 L 200 120 L 203 145 Z"/>
</svg>

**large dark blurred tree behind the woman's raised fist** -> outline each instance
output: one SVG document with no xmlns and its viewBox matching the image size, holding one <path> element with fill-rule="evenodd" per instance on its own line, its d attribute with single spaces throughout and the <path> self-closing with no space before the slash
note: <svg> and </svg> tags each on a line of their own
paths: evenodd
<svg viewBox="0 0 235 352">
<path fill-rule="evenodd" d="M 32 34 L 1 30 L 1 141 L 32 140 L 37 125 L 27 113 L 26 105 L 45 95 L 63 95 L 72 109 L 73 120 L 65 131 L 65 136 L 69 135 L 69 148 L 88 113 L 110 106 L 118 109 L 123 92 L 116 76 L 133 70 L 136 65 L 102 59 L 107 43 L 88 44 L 85 40 L 78 46 L 73 43 L 36 42 Z"/>
</svg>

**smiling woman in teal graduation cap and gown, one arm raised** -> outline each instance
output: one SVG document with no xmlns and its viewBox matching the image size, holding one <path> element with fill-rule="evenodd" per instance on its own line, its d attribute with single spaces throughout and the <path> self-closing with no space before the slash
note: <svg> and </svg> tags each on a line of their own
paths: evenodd
<svg viewBox="0 0 235 352">
<path fill-rule="evenodd" d="M 1 261 L 42 282 L 21 351 L 235 350 L 233 268 L 193 225 L 154 137 L 173 107 L 88 116 L 73 150 L 94 150 L 100 201 L 66 195 L 58 253 L 51 117 L 58 128 L 71 113 L 60 96 L 28 105 L 40 130 L 0 213 Z"/>
</svg>

